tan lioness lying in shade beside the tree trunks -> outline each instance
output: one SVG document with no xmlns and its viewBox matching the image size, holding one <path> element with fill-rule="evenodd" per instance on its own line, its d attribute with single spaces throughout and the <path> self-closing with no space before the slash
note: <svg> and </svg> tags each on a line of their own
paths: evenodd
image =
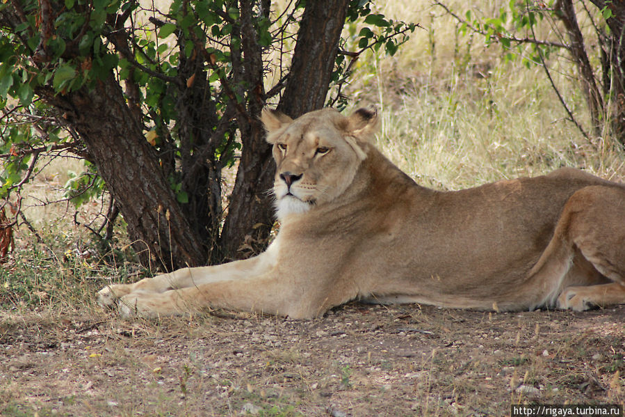
<svg viewBox="0 0 625 417">
<path fill-rule="evenodd" d="M 462 191 L 420 187 L 376 150 L 375 110 L 264 111 L 275 241 L 254 258 L 99 292 L 123 315 L 229 308 L 293 318 L 352 299 L 585 310 L 625 303 L 625 187 L 564 168 Z"/>
</svg>

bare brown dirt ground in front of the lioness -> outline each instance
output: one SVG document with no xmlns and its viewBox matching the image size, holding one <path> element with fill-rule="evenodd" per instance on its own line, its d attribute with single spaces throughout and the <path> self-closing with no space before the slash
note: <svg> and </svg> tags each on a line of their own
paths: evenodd
<svg viewBox="0 0 625 417">
<path fill-rule="evenodd" d="M 0 414 L 508 416 L 510 404 L 623 404 L 624 321 L 625 306 L 350 304 L 316 320 L 3 313 Z"/>
</svg>

